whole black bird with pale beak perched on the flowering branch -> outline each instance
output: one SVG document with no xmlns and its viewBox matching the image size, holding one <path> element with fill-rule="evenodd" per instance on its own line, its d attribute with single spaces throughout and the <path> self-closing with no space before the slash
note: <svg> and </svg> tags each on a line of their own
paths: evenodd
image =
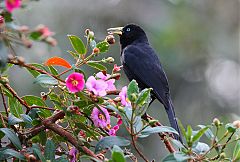
<svg viewBox="0 0 240 162">
<path fill-rule="evenodd" d="M 164 105 L 171 127 L 179 132 L 179 136 L 174 137 L 182 141 L 167 76 L 144 30 L 138 25 L 128 24 L 125 27 L 110 28 L 108 32 L 120 36 L 121 62 L 128 79 L 135 79 L 140 89 L 153 89 L 152 101 L 158 99 Z"/>
</svg>

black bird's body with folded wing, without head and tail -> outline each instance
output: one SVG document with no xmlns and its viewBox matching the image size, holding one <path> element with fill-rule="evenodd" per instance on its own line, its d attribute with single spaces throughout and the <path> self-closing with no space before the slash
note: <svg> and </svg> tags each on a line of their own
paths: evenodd
<svg viewBox="0 0 240 162">
<path fill-rule="evenodd" d="M 122 63 L 127 77 L 135 79 L 140 88 L 151 87 L 164 105 L 169 102 L 169 86 L 157 55 L 149 45 L 129 45 L 122 52 Z"/>
</svg>

